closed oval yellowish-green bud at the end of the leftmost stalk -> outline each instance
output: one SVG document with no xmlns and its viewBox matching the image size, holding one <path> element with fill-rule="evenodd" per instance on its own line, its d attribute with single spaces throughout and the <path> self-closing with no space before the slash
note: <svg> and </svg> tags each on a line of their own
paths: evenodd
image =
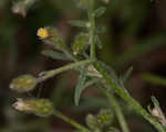
<svg viewBox="0 0 166 132">
<path fill-rule="evenodd" d="M 27 92 L 33 90 L 37 86 L 37 78 L 31 75 L 22 75 L 14 78 L 10 84 L 10 89 L 17 90 L 18 92 Z"/>
</svg>

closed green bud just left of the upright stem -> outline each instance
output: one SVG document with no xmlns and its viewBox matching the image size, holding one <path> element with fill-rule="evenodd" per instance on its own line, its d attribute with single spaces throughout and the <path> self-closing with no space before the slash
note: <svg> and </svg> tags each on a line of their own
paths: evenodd
<svg viewBox="0 0 166 132">
<path fill-rule="evenodd" d="M 81 33 L 76 35 L 73 44 L 74 54 L 83 53 L 89 46 L 89 35 L 85 33 Z"/>
</svg>

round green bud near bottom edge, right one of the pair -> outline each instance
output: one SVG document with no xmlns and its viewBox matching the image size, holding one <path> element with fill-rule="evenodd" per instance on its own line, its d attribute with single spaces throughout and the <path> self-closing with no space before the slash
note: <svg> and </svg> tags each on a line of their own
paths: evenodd
<svg viewBox="0 0 166 132">
<path fill-rule="evenodd" d="M 110 109 L 101 110 L 97 114 L 97 122 L 101 124 L 101 127 L 107 127 L 112 123 L 114 119 L 114 113 Z"/>
</svg>

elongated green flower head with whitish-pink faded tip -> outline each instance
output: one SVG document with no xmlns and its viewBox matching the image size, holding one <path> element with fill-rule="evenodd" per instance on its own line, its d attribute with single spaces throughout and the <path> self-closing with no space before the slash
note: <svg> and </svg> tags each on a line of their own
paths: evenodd
<svg viewBox="0 0 166 132">
<path fill-rule="evenodd" d="M 39 117 L 48 117 L 53 113 L 53 105 L 48 99 L 18 99 L 13 107 L 19 111 Z"/>
</svg>

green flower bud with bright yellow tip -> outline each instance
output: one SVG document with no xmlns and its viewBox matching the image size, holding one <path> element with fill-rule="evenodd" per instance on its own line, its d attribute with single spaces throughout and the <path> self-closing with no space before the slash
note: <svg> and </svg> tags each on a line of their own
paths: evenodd
<svg viewBox="0 0 166 132">
<path fill-rule="evenodd" d="M 45 26 L 40 28 L 37 35 L 45 43 L 53 45 L 56 50 L 66 51 L 68 46 L 62 40 L 59 31 L 55 28 Z"/>
</svg>

